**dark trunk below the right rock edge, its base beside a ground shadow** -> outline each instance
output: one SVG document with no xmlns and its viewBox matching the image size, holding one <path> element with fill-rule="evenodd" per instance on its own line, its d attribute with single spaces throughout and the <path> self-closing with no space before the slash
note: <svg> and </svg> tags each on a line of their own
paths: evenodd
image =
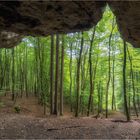
<svg viewBox="0 0 140 140">
<path fill-rule="evenodd" d="M 127 105 L 127 95 L 126 95 L 126 42 L 124 41 L 124 58 L 123 58 L 123 95 L 124 95 L 124 108 L 127 121 L 130 121 L 130 114 Z"/>
</svg>

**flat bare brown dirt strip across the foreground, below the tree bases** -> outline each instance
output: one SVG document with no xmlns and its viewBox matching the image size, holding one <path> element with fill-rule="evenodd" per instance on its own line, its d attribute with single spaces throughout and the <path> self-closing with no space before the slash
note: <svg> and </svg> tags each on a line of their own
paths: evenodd
<svg viewBox="0 0 140 140">
<path fill-rule="evenodd" d="M 1 139 L 140 139 L 140 122 L 0 114 Z"/>
</svg>

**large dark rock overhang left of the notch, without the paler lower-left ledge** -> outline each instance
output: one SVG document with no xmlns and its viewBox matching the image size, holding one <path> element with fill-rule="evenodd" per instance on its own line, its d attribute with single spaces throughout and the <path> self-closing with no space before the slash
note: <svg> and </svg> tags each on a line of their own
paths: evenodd
<svg viewBox="0 0 140 140">
<path fill-rule="evenodd" d="M 102 17 L 105 2 L 0 2 L 0 30 L 24 35 L 48 35 L 86 30 Z"/>
</svg>

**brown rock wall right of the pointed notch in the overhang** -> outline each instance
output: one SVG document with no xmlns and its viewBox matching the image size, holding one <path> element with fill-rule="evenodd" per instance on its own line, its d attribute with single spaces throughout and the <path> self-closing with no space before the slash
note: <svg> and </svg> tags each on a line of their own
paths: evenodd
<svg viewBox="0 0 140 140">
<path fill-rule="evenodd" d="M 122 37 L 140 48 L 140 1 L 110 1 Z"/>
</svg>

